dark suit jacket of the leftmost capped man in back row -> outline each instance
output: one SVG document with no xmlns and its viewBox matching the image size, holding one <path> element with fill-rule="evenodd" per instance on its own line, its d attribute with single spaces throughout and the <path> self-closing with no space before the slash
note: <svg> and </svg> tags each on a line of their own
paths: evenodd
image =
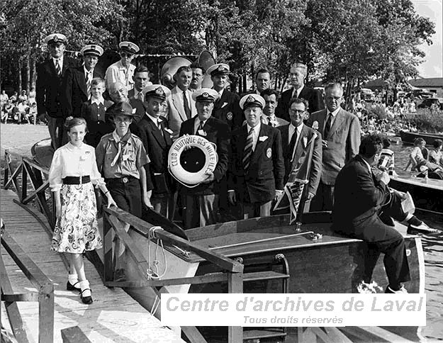
<svg viewBox="0 0 443 343">
<path fill-rule="evenodd" d="M 62 80 L 67 70 L 77 67 L 79 61 L 72 57 L 63 57 L 62 75 L 57 76 L 52 57 L 37 67 L 37 81 L 35 83 L 35 101 L 39 114 L 47 113 L 50 117 L 63 117 L 63 88 Z"/>
</svg>

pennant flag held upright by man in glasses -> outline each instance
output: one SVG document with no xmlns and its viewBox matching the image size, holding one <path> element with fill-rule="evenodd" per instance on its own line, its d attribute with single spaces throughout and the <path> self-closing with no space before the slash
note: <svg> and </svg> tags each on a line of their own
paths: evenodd
<svg viewBox="0 0 443 343">
<path fill-rule="evenodd" d="M 301 196 L 305 189 L 305 184 L 309 182 L 310 164 L 313 158 L 314 141 L 317 135 L 314 134 L 306 145 L 305 154 L 303 154 L 296 163 L 293 171 L 288 176 L 288 181 L 284 186 L 284 192 L 277 199 L 274 210 L 291 209 L 291 220 L 289 224 L 296 221 L 298 208 L 300 207 Z M 302 204 L 303 208 L 303 204 Z"/>
</svg>

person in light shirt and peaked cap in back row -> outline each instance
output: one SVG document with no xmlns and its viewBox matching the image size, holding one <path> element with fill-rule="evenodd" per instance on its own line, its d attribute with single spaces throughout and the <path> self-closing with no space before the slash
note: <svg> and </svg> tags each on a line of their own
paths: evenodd
<svg viewBox="0 0 443 343">
<path fill-rule="evenodd" d="M 135 65 L 131 64 L 134 55 L 140 51 L 140 47 L 132 42 L 121 42 L 118 47 L 120 48 L 120 61 L 111 64 L 106 69 L 105 84 L 106 88 L 113 82 L 120 81 L 127 91 L 134 88 L 134 70 Z"/>
</svg>

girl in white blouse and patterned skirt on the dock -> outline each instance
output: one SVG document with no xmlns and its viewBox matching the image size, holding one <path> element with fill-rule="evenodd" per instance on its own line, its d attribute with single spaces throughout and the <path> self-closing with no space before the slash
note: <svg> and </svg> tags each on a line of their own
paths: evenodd
<svg viewBox="0 0 443 343">
<path fill-rule="evenodd" d="M 116 203 L 97 169 L 94 147 L 83 142 L 86 120 L 69 120 L 67 134 L 69 142 L 55 151 L 49 172 L 56 210 L 52 250 L 67 253 L 67 289 L 80 291 L 82 302 L 90 304 L 91 289 L 84 274 L 82 254 L 86 250 L 101 248 L 93 185 L 106 194 L 108 207 L 116 206 Z"/>
</svg>

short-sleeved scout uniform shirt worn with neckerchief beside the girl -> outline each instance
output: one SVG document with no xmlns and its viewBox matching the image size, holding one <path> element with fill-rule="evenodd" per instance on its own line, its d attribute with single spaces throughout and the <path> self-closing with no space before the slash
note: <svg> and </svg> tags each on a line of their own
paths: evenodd
<svg viewBox="0 0 443 343">
<path fill-rule="evenodd" d="M 142 141 L 129 130 L 121 140 L 116 131 L 101 137 L 96 147 L 96 159 L 105 179 L 125 176 L 140 179 L 138 169 L 150 162 Z"/>
</svg>

